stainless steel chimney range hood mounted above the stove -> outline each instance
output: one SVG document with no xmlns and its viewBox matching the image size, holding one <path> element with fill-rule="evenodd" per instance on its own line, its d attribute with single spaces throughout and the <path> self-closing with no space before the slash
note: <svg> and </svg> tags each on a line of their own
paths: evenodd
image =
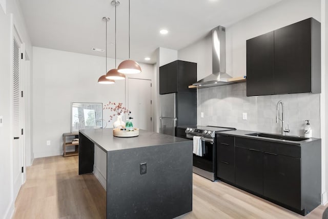
<svg viewBox="0 0 328 219">
<path fill-rule="evenodd" d="M 226 28 L 212 30 L 212 74 L 200 79 L 193 86 L 214 87 L 245 81 L 245 77 L 231 77 L 226 73 Z"/>
</svg>

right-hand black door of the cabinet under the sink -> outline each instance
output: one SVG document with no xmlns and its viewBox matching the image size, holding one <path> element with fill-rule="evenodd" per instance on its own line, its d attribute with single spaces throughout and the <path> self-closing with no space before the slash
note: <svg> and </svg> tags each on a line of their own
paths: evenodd
<svg viewBox="0 0 328 219">
<path fill-rule="evenodd" d="M 264 152 L 263 195 L 301 209 L 301 159 Z"/>
</svg>

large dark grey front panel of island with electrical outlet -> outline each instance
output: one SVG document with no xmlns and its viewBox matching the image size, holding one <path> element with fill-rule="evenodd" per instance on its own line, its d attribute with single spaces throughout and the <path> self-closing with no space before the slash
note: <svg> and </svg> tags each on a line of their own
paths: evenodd
<svg viewBox="0 0 328 219">
<path fill-rule="evenodd" d="M 174 218 L 192 211 L 192 141 L 107 153 L 107 218 Z M 147 173 L 140 174 L 140 164 Z"/>
</svg>

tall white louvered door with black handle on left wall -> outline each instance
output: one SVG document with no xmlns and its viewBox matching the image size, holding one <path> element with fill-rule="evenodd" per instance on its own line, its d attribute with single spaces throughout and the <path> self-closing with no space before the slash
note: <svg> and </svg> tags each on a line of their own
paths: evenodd
<svg viewBox="0 0 328 219">
<path fill-rule="evenodd" d="M 12 56 L 12 133 L 13 133 L 13 189 L 14 197 L 18 194 L 23 182 L 22 175 L 22 116 L 21 116 L 21 95 L 20 82 L 22 75 L 22 42 L 16 31 L 13 37 L 13 56 Z"/>
</svg>

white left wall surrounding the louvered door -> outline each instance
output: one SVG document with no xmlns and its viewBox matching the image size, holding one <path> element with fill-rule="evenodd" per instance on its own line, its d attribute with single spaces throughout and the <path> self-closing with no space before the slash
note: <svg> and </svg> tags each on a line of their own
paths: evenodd
<svg viewBox="0 0 328 219">
<path fill-rule="evenodd" d="M 2 1 L 5 3 L 5 1 Z M 3 126 L 0 127 L 0 217 L 10 218 L 14 211 L 13 195 L 13 154 L 12 154 L 12 122 L 11 122 L 11 48 L 12 25 L 25 43 L 25 49 L 32 59 L 32 47 L 25 28 L 24 19 L 19 4 L 12 0 L 4 4 L 5 11 L 0 8 L 0 115 L 3 116 Z M 11 24 L 11 16 L 13 24 Z M 28 88 L 27 88 L 28 89 Z"/>
</svg>

